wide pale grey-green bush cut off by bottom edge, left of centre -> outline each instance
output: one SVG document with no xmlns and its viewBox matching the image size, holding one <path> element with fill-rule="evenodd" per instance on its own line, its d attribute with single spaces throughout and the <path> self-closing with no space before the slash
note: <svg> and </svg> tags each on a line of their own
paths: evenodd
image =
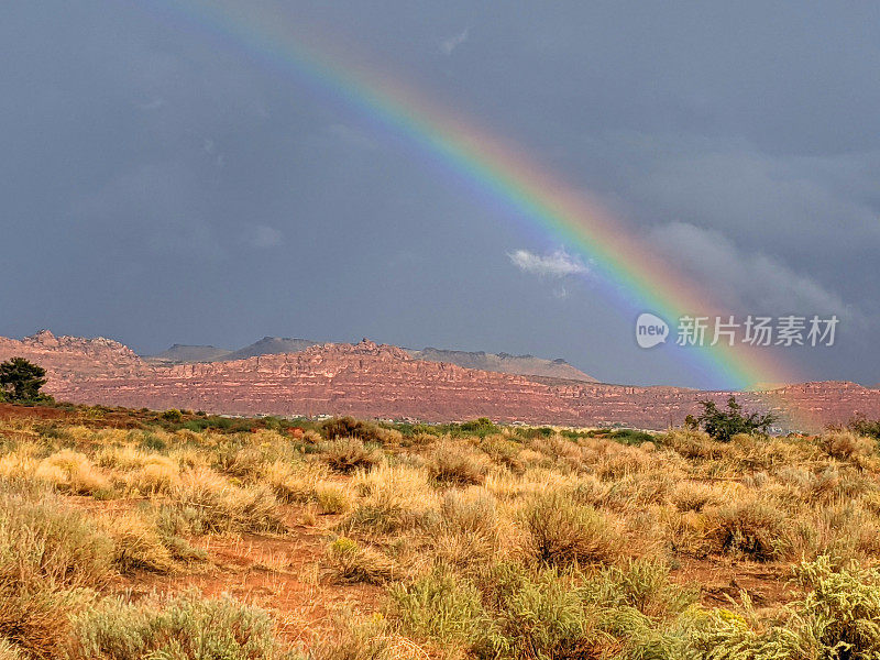
<svg viewBox="0 0 880 660">
<path fill-rule="evenodd" d="M 264 609 L 195 593 L 139 603 L 107 598 L 74 617 L 68 660 L 293 658 Z"/>
</svg>

